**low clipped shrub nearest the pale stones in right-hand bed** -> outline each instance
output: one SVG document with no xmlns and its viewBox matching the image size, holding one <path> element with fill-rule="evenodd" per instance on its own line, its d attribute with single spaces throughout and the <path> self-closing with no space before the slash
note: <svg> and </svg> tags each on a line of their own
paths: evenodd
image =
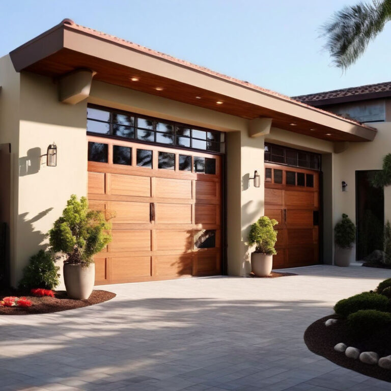
<svg viewBox="0 0 391 391">
<path fill-rule="evenodd" d="M 376 310 L 359 310 L 348 316 L 348 325 L 354 334 L 368 336 L 391 324 L 391 314 Z"/>
</svg>

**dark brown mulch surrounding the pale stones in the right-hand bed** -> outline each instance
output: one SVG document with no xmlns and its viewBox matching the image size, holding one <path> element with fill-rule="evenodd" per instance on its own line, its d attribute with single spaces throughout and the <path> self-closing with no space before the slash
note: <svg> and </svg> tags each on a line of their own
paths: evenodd
<svg viewBox="0 0 391 391">
<path fill-rule="evenodd" d="M 360 351 L 372 351 L 384 357 L 391 354 L 391 333 L 374 332 L 365 339 L 357 339 L 350 332 L 346 321 L 340 319 L 336 324 L 326 327 L 324 322 L 336 315 L 326 316 L 311 324 L 304 332 L 304 342 L 307 347 L 320 356 L 335 362 L 341 367 L 351 369 L 367 376 L 391 382 L 391 371 L 380 368 L 378 365 L 368 365 L 361 361 L 346 357 L 345 353 L 336 352 L 334 346 L 343 342 Z"/>
</svg>

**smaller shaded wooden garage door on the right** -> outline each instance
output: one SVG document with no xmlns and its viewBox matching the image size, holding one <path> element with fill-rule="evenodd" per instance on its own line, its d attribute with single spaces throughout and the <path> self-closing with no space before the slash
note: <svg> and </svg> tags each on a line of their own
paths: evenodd
<svg viewBox="0 0 391 391">
<path fill-rule="evenodd" d="M 278 221 L 273 268 L 319 263 L 319 172 L 265 164 L 265 215 Z"/>
</svg>

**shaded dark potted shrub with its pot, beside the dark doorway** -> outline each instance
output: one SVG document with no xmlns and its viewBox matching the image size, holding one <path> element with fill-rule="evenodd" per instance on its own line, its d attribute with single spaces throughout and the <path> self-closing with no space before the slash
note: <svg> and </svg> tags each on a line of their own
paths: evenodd
<svg viewBox="0 0 391 391">
<path fill-rule="evenodd" d="M 342 214 L 342 220 L 334 228 L 334 240 L 337 244 L 336 265 L 349 266 L 352 244 L 356 241 L 356 227 L 347 214 Z"/>
</svg>

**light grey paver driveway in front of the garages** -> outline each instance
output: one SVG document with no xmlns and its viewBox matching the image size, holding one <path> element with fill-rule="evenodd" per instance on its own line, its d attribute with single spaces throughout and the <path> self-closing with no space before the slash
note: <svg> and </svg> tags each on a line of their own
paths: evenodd
<svg viewBox="0 0 391 391">
<path fill-rule="evenodd" d="M 391 389 L 303 343 L 306 326 L 334 302 L 373 289 L 391 270 L 293 271 L 106 286 L 117 297 L 103 304 L 0 317 L 0 389 Z"/>
</svg>

